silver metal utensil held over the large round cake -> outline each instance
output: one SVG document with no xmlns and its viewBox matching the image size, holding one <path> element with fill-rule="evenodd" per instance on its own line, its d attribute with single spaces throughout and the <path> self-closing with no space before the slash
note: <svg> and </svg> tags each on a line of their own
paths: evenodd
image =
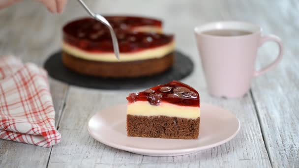
<svg viewBox="0 0 299 168">
<path fill-rule="evenodd" d="M 102 15 L 92 12 L 90 10 L 90 8 L 84 3 L 83 0 L 78 0 L 78 1 L 84 7 L 84 9 L 90 14 L 91 17 L 93 17 L 97 21 L 100 21 L 102 24 L 104 24 L 105 26 L 107 26 L 109 28 L 111 38 L 112 38 L 112 43 L 113 43 L 114 54 L 118 59 L 120 59 L 119 43 L 118 43 L 118 39 L 116 38 L 116 35 L 115 35 L 115 32 L 114 32 L 112 26 Z"/>
</svg>

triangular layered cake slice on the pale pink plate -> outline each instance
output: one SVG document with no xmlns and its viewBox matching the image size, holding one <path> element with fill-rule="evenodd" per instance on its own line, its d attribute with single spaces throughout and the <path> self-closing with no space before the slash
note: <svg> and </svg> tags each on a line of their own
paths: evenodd
<svg viewBox="0 0 299 168">
<path fill-rule="evenodd" d="M 200 123 L 198 92 L 172 81 L 127 97 L 127 135 L 197 139 Z"/>
</svg>

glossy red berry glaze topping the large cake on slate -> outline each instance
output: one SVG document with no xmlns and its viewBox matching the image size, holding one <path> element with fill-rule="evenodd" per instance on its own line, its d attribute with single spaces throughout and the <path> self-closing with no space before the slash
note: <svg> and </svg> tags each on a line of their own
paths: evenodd
<svg viewBox="0 0 299 168">
<path fill-rule="evenodd" d="M 142 17 L 107 16 L 113 26 L 120 46 L 120 53 L 138 52 L 169 44 L 173 35 L 149 32 L 133 32 L 142 26 L 161 27 L 161 21 Z M 63 27 L 63 41 L 88 52 L 113 52 L 110 31 L 100 22 L 84 18 Z"/>
</svg>

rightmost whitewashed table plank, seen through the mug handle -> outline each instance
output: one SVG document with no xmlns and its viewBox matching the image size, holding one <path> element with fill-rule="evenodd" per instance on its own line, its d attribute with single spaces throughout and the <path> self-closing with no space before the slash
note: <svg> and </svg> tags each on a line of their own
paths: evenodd
<svg viewBox="0 0 299 168">
<path fill-rule="evenodd" d="M 299 14 L 299 2 L 280 3 L 288 8 L 286 13 L 280 9 L 279 14 L 269 13 L 281 6 L 273 5 L 266 9 L 261 20 L 269 33 L 281 37 L 285 54 L 281 63 L 273 70 L 254 80 L 252 95 L 262 126 L 273 168 L 299 167 L 299 38 L 296 18 Z M 284 21 L 284 22 L 279 22 Z M 267 34 L 267 33 L 266 33 Z M 258 68 L 264 67 L 277 55 L 277 46 L 265 44 L 258 57 Z"/>
</svg>

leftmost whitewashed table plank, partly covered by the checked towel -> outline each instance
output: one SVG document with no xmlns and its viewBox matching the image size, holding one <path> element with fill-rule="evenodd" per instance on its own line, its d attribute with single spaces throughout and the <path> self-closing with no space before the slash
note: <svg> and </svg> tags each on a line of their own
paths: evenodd
<svg viewBox="0 0 299 168">
<path fill-rule="evenodd" d="M 42 66 L 47 56 L 60 44 L 60 35 L 55 31 L 61 23 L 48 15 L 33 1 L 24 1 L 1 10 L 0 55 L 12 54 L 21 57 L 24 62 Z M 58 125 L 68 85 L 51 78 L 49 82 Z M 51 148 L 0 140 L 0 168 L 45 168 L 50 152 Z"/>
</svg>

